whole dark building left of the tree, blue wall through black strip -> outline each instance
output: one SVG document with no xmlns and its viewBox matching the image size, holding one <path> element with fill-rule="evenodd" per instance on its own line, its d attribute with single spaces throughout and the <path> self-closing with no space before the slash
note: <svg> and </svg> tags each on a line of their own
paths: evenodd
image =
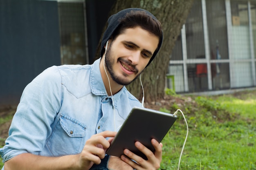
<svg viewBox="0 0 256 170">
<path fill-rule="evenodd" d="M 113 2 L 0 0 L 0 107 L 49 66 L 92 63 Z"/>
</svg>

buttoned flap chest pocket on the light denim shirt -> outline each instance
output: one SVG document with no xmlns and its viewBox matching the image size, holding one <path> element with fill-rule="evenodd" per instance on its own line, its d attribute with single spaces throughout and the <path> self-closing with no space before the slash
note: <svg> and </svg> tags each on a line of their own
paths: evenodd
<svg viewBox="0 0 256 170">
<path fill-rule="evenodd" d="M 77 154 L 85 144 L 83 141 L 85 132 L 84 124 L 61 114 L 47 140 L 47 148 L 53 156 Z"/>
</svg>

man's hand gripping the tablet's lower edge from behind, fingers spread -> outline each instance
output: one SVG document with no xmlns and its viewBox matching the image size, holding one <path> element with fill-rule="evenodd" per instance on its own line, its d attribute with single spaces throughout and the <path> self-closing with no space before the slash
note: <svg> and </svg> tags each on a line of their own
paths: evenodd
<svg viewBox="0 0 256 170">
<path fill-rule="evenodd" d="M 160 163 L 162 161 L 163 144 L 159 144 L 155 139 L 152 139 L 151 143 L 155 148 L 155 153 L 146 148 L 140 142 L 135 142 L 136 148 L 138 148 L 142 153 L 144 153 L 148 160 L 145 160 L 139 157 L 138 155 L 135 155 L 128 149 L 124 150 L 124 155 L 126 155 L 127 157 L 122 155 L 121 159 L 136 170 L 157 170 L 158 168 L 160 168 Z M 131 159 L 133 159 L 135 162 L 132 161 Z"/>
</svg>

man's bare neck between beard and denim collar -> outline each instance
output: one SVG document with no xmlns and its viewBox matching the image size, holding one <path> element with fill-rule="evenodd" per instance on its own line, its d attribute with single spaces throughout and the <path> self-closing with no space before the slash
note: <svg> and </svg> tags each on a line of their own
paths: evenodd
<svg viewBox="0 0 256 170">
<path fill-rule="evenodd" d="M 112 91 L 112 95 L 115 95 L 117 92 L 119 92 L 121 90 L 121 88 L 123 87 L 123 85 L 117 84 L 112 77 L 110 76 L 110 74 L 108 73 L 108 70 L 106 68 L 106 71 L 104 69 L 104 56 L 101 59 L 100 62 L 100 71 L 101 71 L 101 77 L 104 83 L 104 86 L 106 88 L 106 91 L 108 93 L 109 96 L 111 96 L 111 91 Z M 108 80 L 109 78 L 109 80 Z M 109 85 L 110 84 L 110 85 Z M 110 86 L 111 86 L 111 91 L 110 91 Z"/>
</svg>

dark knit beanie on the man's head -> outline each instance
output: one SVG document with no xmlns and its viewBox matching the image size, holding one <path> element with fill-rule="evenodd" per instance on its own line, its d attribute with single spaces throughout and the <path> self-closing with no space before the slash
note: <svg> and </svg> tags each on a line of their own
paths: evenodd
<svg viewBox="0 0 256 170">
<path fill-rule="evenodd" d="M 127 13 L 130 13 L 130 11 L 145 11 L 149 16 L 151 16 L 152 18 L 154 18 L 155 20 L 157 20 L 157 18 L 155 18 L 155 16 L 150 13 L 149 11 L 146 11 L 144 9 L 140 9 L 140 8 L 128 8 L 128 9 L 123 9 L 121 11 L 119 11 L 118 13 L 111 15 L 108 18 L 108 27 L 106 29 L 106 31 L 104 32 L 102 41 L 101 41 L 101 53 L 100 53 L 100 57 L 103 56 L 104 52 L 105 52 L 105 44 L 107 43 L 107 41 L 110 39 L 111 35 L 114 33 L 115 29 L 117 29 L 117 26 L 120 24 L 119 19 L 120 18 L 124 18 L 126 16 Z M 159 44 L 157 46 L 157 49 L 155 50 L 155 52 L 153 53 L 152 57 L 150 58 L 147 66 L 150 64 L 150 62 L 152 62 L 152 60 L 155 58 L 155 55 L 157 55 L 161 45 L 162 45 L 162 41 L 163 41 L 163 32 L 162 32 L 162 36 L 159 39 Z M 147 67 L 146 66 L 146 67 Z"/>
</svg>

